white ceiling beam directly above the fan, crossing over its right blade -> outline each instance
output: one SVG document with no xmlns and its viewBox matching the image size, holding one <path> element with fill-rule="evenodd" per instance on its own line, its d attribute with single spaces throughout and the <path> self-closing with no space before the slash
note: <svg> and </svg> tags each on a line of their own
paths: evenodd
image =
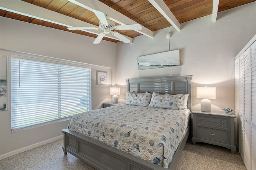
<svg viewBox="0 0 256 170">
<path fill-rule="evenodd" d="M 128 18 L 127 16 L 121 14 L 120 12 L 112 9 L 111 7 L 107 6 L 106 4 L 98 1 L 98 0 L 68 0 L 74 4 L 77 4 L 78 6 L 81 6 L 87 10 L 98 10 L 100 12 L 103 12 L 106 14 L 110 20 L 119 23 L 121 25 L 126 25 L 126 24 L 139 24 L 136 21 Z M 134 30 L 137 31 L 138 33 L 141 33 L 143 35 L 146 35 L 150 38 L 154 37 L 154 32 L 151 31 L 150 29 L 147 29 L 146 27 L 142 26 L 141 30 Z"/>
</svg>

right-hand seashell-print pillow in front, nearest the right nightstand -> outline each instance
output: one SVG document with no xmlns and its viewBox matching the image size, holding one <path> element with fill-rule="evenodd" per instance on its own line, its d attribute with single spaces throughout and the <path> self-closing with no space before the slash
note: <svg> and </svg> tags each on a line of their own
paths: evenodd
<svg viewBox="0 0 256 170">
<path fill-rule="evenodd" d="M 164 109 L 184 110 L 184 94 L 159 94 L 153 93 L 148 107 L 158 107 Z"/>
</svg>

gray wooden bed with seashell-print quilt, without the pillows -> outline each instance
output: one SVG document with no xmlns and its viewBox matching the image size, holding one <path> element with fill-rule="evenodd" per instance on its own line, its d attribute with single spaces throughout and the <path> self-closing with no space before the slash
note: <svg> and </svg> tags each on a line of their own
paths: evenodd
<svg viewBox="0 0 256 170">
<path fill-rule="evenodd" d="M 71 121 L 67 129 L 62 129 L 64 154 L 69 152 L 97 170 L 175 170 L 190 133 L 191 78 L 192 76 L 170 76 L 126 79 L 127 92 L 129 93 L 154 92 L 153 95 L 172 94 L 175 96 L 177 94 L 189 94 L 188 109 L 174 112 L 175 110 L 172 109 L 124 104 L 75 115 L 72 119 L 76 119 L 76 121 Z M 149 104 L 151 103 L 149 102 Z M 128 110 L 128 112 L 126 113 L 124 110 Z M 90 115 L 90 119 L 89 116 L 84 118 L 86 114 Z M 109 119 L 112 123 L 101 119 L 104 117 L 102 115 L 106 114 L 110 115 L 105 119 Z M 171 117 L 174 114 L 185 117 L 180 116 L 176 119 Z M 161 117 L 161 119 L 155 119 L 156 116 Z M 120 121 L 118 117 L 125 117 L 125 119 Z M 154 125 L 149 121 L 150 119 L 155 119 Z M 166 124 L 161 122 L 162 119 L 168 120 L 165 122 Z M 186 121 L 183 121 L 184 119 Z M 174 125 L 170 124 L 171 120 L 175 122 L 177 130 L 172 128 Z M 129 122 L 135 123 L 136 121 L 140 125 L 129 124 Z M 83 122 L 86 125 L 83 125 Z M 182 125 L 182 122 L 186 122 L 186 125 Z M 118 125 L 119 128 L 113 128 L 112 124 Z M 150 132 L 150 125 L 157 127 L 157 131 Z M 92 126 L 96 129 L 89 129 Z M 104 130 L 97 129 L 100 127 Z M 138 129 L 142 131 L 139 132 Z M 163 131 L 168 133 L 163 135 Z M 171 136 L 173 131 L 178 131 L 180 134 Z M 160 141 L 156 142 L 151 139 L 153 136 L 160 136 Z M 166 142 L 166 140 L 173 140 L 174 138 L 177 140 L 179 138 L 180 142 L 175 143 L 174 141 L 175 145 L 169 146 L 170 142 Z M 136 141 L 126 141 L 126 139 Z M 163 152 L 155 151 L 153 148 L 160 148 Z M 175 148 L 175 150 L 166 150 L 168 148 Z"/>
</svg>

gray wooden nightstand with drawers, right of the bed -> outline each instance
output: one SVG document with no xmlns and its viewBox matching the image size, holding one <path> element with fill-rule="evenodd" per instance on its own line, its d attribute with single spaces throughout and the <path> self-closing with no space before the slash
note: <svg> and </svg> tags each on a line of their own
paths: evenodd
<svg viewBox="0 0 256 170">
<path fill-rule="evenodd" d="M 224 112 L 192 111 L 193 145 L 196 142 L 210 143 L 231 149 L 235 146 L 235 115 Z"/>
</svg>

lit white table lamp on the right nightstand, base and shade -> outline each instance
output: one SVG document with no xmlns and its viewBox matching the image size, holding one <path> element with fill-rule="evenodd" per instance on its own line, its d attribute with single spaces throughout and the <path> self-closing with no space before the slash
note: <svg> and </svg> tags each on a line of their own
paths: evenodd
<svg viewBox="0 0 256 170">
<path fill-rule="evenodd" d="M 201 98 L 201 110 L 210 112 L 212 103 L 209 99 L 216 99 L 216 87 L 197 87 L 196 98 Z"/>
</svg>

